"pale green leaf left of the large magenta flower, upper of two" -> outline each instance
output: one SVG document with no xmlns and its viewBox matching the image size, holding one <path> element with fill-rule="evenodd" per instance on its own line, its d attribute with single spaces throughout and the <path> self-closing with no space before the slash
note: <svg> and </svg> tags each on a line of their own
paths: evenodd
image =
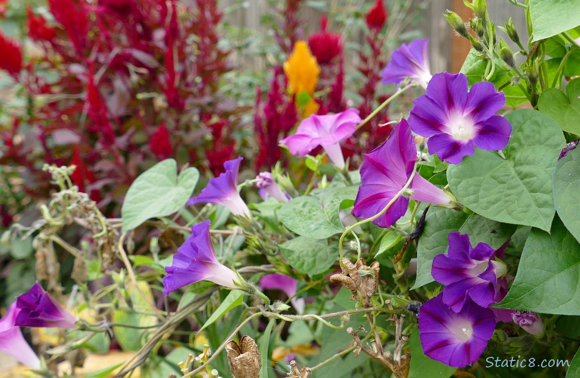
<svg viewBox="0 0 580 378">
<path fill-rule="evenodd" d="M 284 203 L 278 210 L 278 217 L 292 232 L 312 239 L 327 239 L 344 230 L 338 213 L 331 216 L 322 207 L 320 199 L 311 195 Z"/>
</svg>

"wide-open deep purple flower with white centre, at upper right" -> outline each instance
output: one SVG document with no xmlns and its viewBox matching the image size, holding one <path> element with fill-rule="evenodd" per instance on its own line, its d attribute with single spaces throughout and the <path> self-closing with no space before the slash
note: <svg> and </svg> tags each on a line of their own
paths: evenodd
<svg viewBox="0 0 580 378">
<path fill-rule="evenodd" d="M 494 115 L 505 101 L 505 95 L 490 82 L 475 83 L 467 92 L 465 75 L 443 72 L 433 75 L 426 95 L 413 101 L 409 125 L 415 133 L 429 137 L 430 154 L 458 164 L 473 155 L 475 147 L 501 150 L 507 145 L 512 125 Z"/>
</svg>

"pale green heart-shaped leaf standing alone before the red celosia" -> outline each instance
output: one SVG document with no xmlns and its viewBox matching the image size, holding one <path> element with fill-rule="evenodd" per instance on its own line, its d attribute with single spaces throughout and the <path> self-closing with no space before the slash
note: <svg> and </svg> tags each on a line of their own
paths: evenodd
<svg viewBox="0 0 580 378">
<path fill-rule="evenodd" d="M 132 230 L 147 219 L 171 215 L 182 208 L 200 178 L 191 167 L 177 177 L 177 163 L 166 159 L 143 172 L 131 184 L 123 206 L 123 232 Z"/>
</svg>

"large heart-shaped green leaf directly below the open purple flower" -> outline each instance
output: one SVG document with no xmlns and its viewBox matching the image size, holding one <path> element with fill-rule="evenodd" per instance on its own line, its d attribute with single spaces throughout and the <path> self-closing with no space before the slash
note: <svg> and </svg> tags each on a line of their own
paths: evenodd
<svg viewBox="0 0 580 378">
<path fill-rule="evenodd" d="M 510 112 L 512 136 L 503 150 L 477 150 L 459 165 L 449 166 L 453 194 L 477 214 L 489 219 L 550 230 L 556 209 L 552 174 L 565 145 L 560 126 L 536 110 Z"/>
</svg>

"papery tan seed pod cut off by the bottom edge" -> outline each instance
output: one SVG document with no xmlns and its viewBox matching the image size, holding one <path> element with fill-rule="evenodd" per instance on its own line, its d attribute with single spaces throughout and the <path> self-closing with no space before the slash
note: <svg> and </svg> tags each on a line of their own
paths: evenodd
<svg viewBox="0 0 580 378">
<path fill-rule="evenodd" d="M 262 361 L 256 341 L 242 336 L 240 344 L 230 341 L 226 344 L 227 363 L 235 378 L 259 378 Z"/>
</svg>

